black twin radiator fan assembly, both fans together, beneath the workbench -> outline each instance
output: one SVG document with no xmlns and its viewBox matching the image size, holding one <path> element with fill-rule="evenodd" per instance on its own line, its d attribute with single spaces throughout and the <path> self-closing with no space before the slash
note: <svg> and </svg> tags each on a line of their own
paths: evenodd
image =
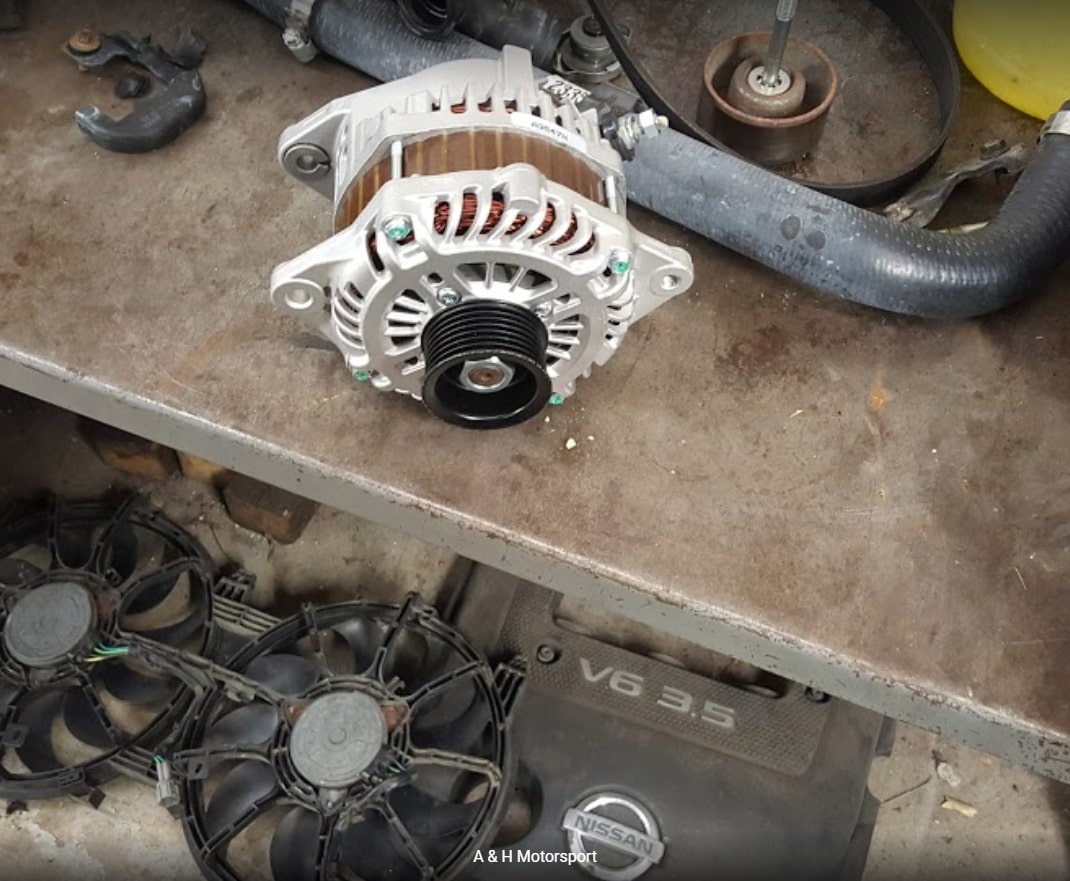
<svg viewBox="0 0 1070 881">
<path fill-rule="evenodd" d="M 511 790 L 520 663 L 435 610 L 248 605 L 143 501 L 0 531 L 0 798 L 154 784 L 212 881 L 447 879 Z"/>
</svg>

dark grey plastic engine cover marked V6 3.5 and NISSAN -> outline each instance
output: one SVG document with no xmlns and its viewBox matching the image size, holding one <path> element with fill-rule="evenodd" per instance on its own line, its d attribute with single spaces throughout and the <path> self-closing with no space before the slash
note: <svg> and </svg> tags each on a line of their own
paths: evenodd
<svg viewBox="0 0 1070 881">
<path fill-rule="evenodd" d="M 580 633 L 556 606 L 484 567 L 461 597 L 454 623 L 530 671 L 514 804 L 465 878 L 858 881 L 884 717 L 782 680 L 708 679 Z"/>
</svg>

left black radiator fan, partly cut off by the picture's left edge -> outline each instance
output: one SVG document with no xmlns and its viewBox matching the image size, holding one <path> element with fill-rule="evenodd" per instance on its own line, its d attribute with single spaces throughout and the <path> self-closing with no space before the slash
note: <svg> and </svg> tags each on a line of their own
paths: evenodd
<svg viewBox="0 0 1070 881">
<path fill-rule="evenodd" d="M 113 636 L 201 651 L 213 572 L 136 498 L 52 502 L 0 530 L 0 798 L 88 794 L 175 731 L 192 693 Z"/>
</svg>

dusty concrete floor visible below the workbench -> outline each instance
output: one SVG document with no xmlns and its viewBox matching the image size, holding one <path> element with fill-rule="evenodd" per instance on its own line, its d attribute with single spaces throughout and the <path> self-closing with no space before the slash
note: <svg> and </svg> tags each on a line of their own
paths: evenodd
<svg viewBox="0 0 1070 881">
<path fill-rule="evenodd" d="M 0 390 L 0 510 L 43 488 L 88 498 L 134 486 L 100 464 L 71 414 Z M 304 536 L 284 547 L 231 523 L 200 484 L 175 477 L 140 488 L 220 561 L 254 573 L 255 603 L 273 610 L 301 599 L 393 599 L 408 590 L 433 598 L 465 574 L 447 551 L 338 512 L 321 508 Z M 945 774 L 950 783 L 937 775 L 937 760 L 953 771 Z M 865 881 L 1070 879 L 1070 787 L 900 726 L 870 788 L 882 808 Z M 9 804 L 0 812 L 0 878 L 201 877 L 179 824 L 148 788 L 119 779 L 106 791 L 96 809 L 75 799 Z M 948 798 L 976 815 L 943 807 Z"/>
</svg>

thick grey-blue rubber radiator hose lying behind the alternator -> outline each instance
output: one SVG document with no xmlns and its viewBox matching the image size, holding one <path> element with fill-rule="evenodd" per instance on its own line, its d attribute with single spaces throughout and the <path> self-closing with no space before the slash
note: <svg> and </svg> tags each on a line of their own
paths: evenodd
<svg viewBox="0 0 1070 881">
<path fill-rule="evenodd" d="M 247 2 L 284 24 L 288 0 Z M 380 80 L 498 55 L 457 33 L 416 36 L 389 0 L 318 0 L 309 35 Z M 996 312 L 1037 292 L 1070 256 L 1070 102 L 999 213 L 963 234 L 895 224 L 676 132 L 643 141 L 626 174 L 636 203 L 802 284 L 903 315 Z"/>
</svg>

